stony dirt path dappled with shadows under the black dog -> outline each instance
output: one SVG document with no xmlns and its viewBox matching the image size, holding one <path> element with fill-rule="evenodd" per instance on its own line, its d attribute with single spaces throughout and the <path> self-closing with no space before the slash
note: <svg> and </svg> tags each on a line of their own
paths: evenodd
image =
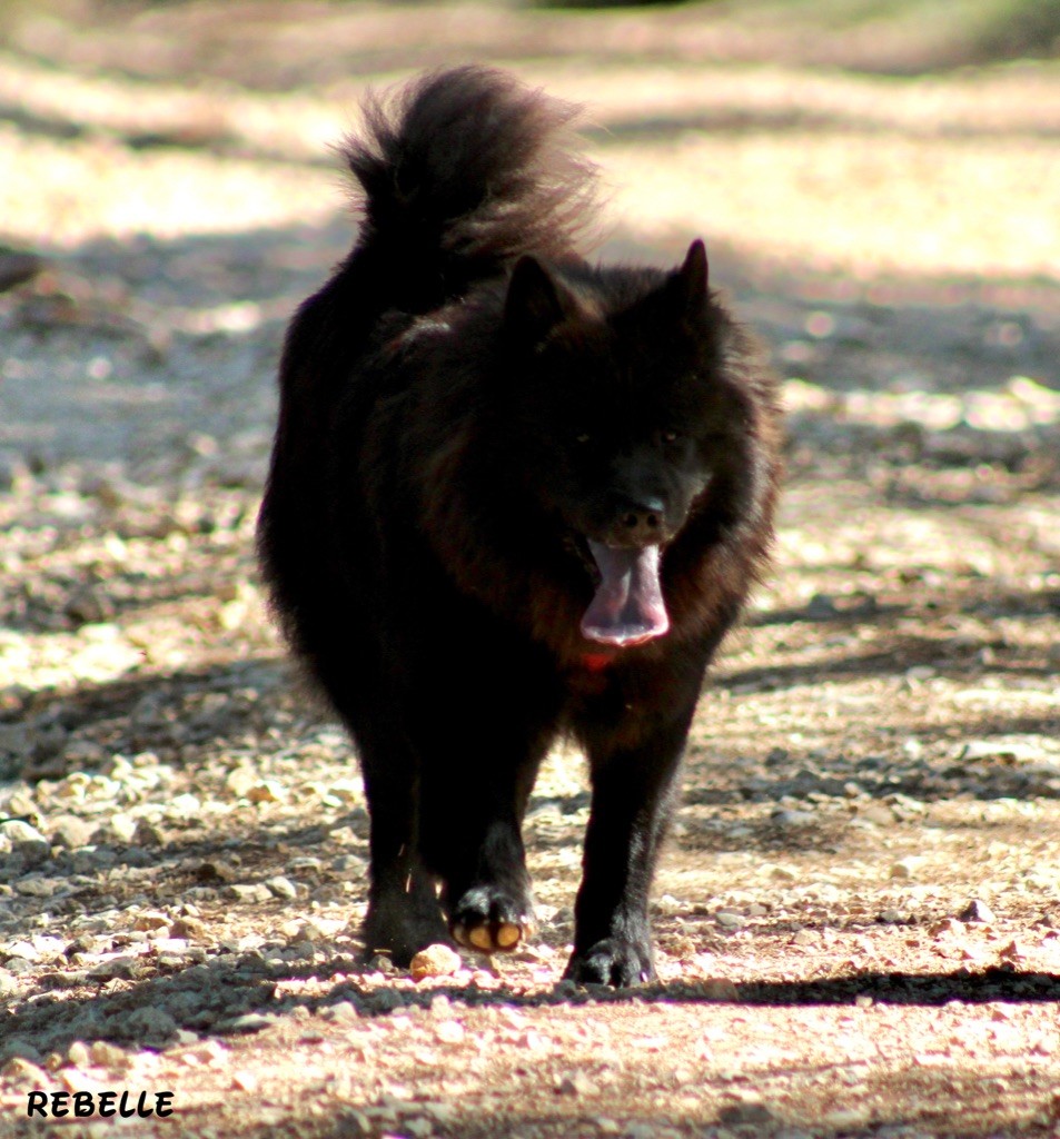
<svg viewBox="0 0 1060 1139">
<path fill-rule="evenodd" d="M 284 322 L 348 240 L 323 142 L 458 17 L 273 11 L 240 57 L 212 11 L 0 57 L 0 237 L 46 261 L 0 294 L 0 1136 L 115 1126 L 36 1090 L 172 1092 L 143 1136 L 1060 1134 L 1060 74 L 707 66 L 696 8 L 582 40 L 479 13 L 475 55 L 592 104 L 606 256 L 706 232 L 790 478 L 697 722 L 660 983 L 559 982 L 562 752 L 540 939 L 417 982 L 356 964 L 363 790 L 250 546 Z M 139 74 L 90 69 L 122 44 Z"/>
</svg>

